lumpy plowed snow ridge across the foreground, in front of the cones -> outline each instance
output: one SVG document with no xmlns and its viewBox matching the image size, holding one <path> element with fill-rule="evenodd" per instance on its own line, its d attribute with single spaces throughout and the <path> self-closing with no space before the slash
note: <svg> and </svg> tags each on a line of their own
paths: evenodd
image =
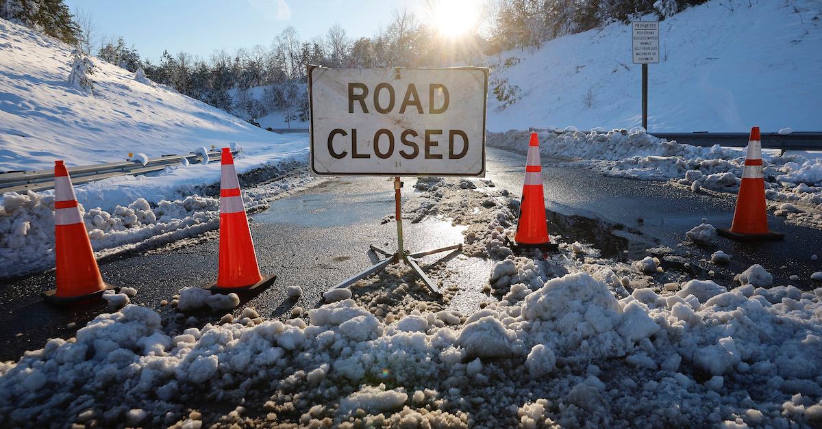
<svg viewBox="0 0 822 429">
<path fill-rule="evenodd" d="M 229 318 L 178 334 L 164 330 L 155 311 L 129 305 L 98 316 L 76 341 L 52 339 L 20 362 L 0 364 L 0 419 L 69 424 L 106 413 L 116 420 L 129 408 L 107 401 L 128 397 L 146 422 L 168 425 L 167 413 L 187 418 L 182 401 L 237 403 L 274 381 L 272 402 L 304 410 L 306 425 L 324 417 L 335 424 L 379 413 L 399 418 L 433 399 L 440 413 L 450 413 L 436 418 L 460 422 L 461 391 L 483 386 L 500 402 L 472 406 L 486 417 L 515 410 L 493 417 L 503 426 L 549 415 L 563 426 L 638 424 L 625 416 L 649 415 L 665 426 L 737 417 L 751 425 L 819 423 L 813 410 L 822 404 L 822 288 L 769 294 L 694 281 L 676 294 L 636 289 L 617 300 L 611 287 L 590 274 L 567 274 L 529 289 L 521 302 L 492 303 L 463 325 L 413 311 L 399 329 L 351 299 L 309 311 L 308 324 L 251 319 L 256 312 L 244 311 L 245 325 Z M 619 367 L 626 370 L 607 376 L 599 369 Z M 538 396 L 506 394 L 535 376 Z M 398 387 L 369 385 L 373 380 Z M 742 404 L 739 389 L 750 395 Z M 556 408 L 560 402 L 566 406 Z"/>
</svg>

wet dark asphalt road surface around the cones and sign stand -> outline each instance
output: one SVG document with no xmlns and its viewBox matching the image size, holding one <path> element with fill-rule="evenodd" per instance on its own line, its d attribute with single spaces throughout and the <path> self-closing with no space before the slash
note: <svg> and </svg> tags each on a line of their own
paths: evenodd
<svg viewBox="0 0 822 429">
<path fill-rule="evenodd" d="M 497 187 L 519 196 L 524 176 L 524 155 L 489 149 L 487 178 Z M 810 261 L 813 253 L 822 253 L 822 231 L 785 224 L 783 219 L 769 217 L 771 228 L 785 233 L 784 242 L 733 242 L 719 238 L 716 246 L 677 247 L 685 232 L 700 224 L 703 218 L 715 226 L 730 225 L 733 196 L 693 194 L 685 187 L 660 182 L 640 182 L 605 178 L 597 173 L 552 167 L 543 160 L 543 177 L 549 233 L 561 234 L 567 241 L 579 240 L 618 255 L 628 251 L 632 259 L 644 256 L 649 247 L 667 246 L 690 256 L 692 261 L 708 257 L 721 248 L 733 255 L 723 268 L 727 278 L 732 273 L 760 263 L 778 279 L 797 274 L 800 288 L 812 288 L 807 280 L 822 270 L 822 261 Z M 252 234 L 257 257 L 264 274 L 277 274 L 271 288 L 242 298 L 235 313 L 252 305 L 265 317 L 287 317 L 295 306 L 317 307 L 321 293 L 372 265 L 376 259 L 366 253 L 369 244 L 386 250 L 395 246 L 395 223 L 381 223 L 393 214 L 393 188 L 390 178 L 335 178 L 272 204 L 270 210 L 253 216 Z M 413 178 L 405 180 L 404 205 L 416 207 Z M 460 242 L 460 228 L 449 223 L 423 221 L 404 223 L 406 247 L 414 251 Z M 161 307 L 180 288 L 203 286 L 216 277 L 216 234 L 151 251 L 144 255 L 107 261 L 100 265 L 104 279 L 111 284 L 138 289 L 132 302 L 155 307 L 168 321 L 174 320 L 173 307 Z M 427 262 L 436 261 L 428 256 Z M 492 264 L 455 258 L 449 261 L 466 273 L 455 282 L 469 283 L 452 303 L 472 307 L 478 302 L 478 288 L 487 279 Z M 52 337 L 68 338 L 94 316 L 109 311 L 104 303 L 62 310 L 46 305 L 39 293 L 53 288 L 52 273 L 0 283 L 0 360 L 17 359 L 25 350 L 43 347 Z M 286 285 L 302 287 L 302 297 L 289 300 Z M 459 305 L 459 304 L 457 304 Z M 222 313 L 215 315 L 219 318 Z"/>
</svg>

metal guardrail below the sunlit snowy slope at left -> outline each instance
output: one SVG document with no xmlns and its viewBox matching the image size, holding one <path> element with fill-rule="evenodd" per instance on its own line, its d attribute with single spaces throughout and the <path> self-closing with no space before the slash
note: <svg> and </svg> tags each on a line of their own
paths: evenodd
<svg viewBox="0 0 822 429">
<path fill-rule="evenodd" d="M 232 151 L 236 154 L 236 151 Z M 221 158 L 219 151 L 208 152 L 209 162 L 219 161 Z M 81 165 L 79 167 L 69 167 L 68 173 L 72 176 L 72 183 L 79 185 L 86 182 L 94 182 L 104 178 L 115 176 L 134 175 L 152 173 L 163 170 L 169 165 L 178 164 L 182 159 L 188 159 L 191 163 L 201 163 L 202 155 L 166 155 L 160 158 L 149 159 L 145 165 L 139 161 L 123 161 L 119 163 Z M 0 195 L 4 192 L 25 192 L 43 191 L 54 187 L 53 170 L 21 171 L 11 173 L 0 173 Z"/>
</svg>

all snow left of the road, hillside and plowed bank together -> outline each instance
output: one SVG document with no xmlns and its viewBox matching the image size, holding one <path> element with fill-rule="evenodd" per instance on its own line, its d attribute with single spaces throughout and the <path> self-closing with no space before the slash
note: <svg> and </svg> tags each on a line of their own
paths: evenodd
<svg viewBox="0 0 822 429">
<path fill-rule="evenodd" d="M 240 150 L 247 210 L 263 210 L 310 182 L 308 139 L 261 130 L 240 118 L 97 58 L 93 94 L 66 81 L 72 49 L 0 20 L 0 170 L 50 169 L 149 157 L 198 147 Z M 297 169 L 300 172 L 297 172 Z M 150 176 L 75 187 L 98 256 L 150 248 L 215 229 L 219 163 L 178 164 Z M 265 186 L 254 185 L 276 179 Z M 247 187 L 248 185 L 248 187 Z M 0 196 L 0 278 L 54 265 L 53 191 Z"/>
</svg>

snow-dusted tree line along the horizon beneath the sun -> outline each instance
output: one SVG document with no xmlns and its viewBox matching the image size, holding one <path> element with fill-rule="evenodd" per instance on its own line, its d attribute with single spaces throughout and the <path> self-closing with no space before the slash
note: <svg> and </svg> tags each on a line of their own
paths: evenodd
<svg viewBox="0 0 822 429">
<path fill-rule="evenodd" d="M 442 0 L 420 1 L 423 10 L 433 13 Z M 72 16 L 62 0 L 0 0 L 0 16 L 75 44 L 86 55 L 96 54 L 129 71 L 142 69 L 152 81 L 243 118 L 284 112 L 287 121 L 304 121 L 307 64 L 353 68 L 484 65 L 487 55 L 539 48 L 561 35 L 648 13 L 664 19 L 704 1 L 487 0 L 473 30 L 459 39 L 441 37 L 426 16 L 421 19 L 408 10 L 396 10 L 385 29 L 372 37 L 350 38 L 338 24 L 325 35 L 302 39 L 289 26 L 267 45 L 233 53 L 216 50 L 209 58 L 166 50 L 159 62 L 141 58 L 122 37 L 104 42 L 94 52 L 95 26 L 90 16 Z"/>
</svg>

